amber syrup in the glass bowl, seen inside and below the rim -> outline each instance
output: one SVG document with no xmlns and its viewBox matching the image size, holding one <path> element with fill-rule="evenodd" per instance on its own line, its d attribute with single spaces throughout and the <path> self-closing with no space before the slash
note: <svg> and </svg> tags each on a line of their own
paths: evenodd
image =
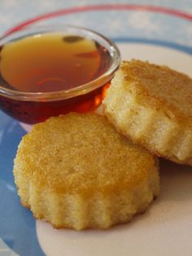
<svg viewBox="0 0 192 256">
<path fill-rule="evenodd" d="M 94 81 L 111 65 L 107 49 L 89 38 L 45 33 L 1 46 L 0 85 L 15 91 L 61 92 Z M 0 96 L 4 112 L 26 123 L 72 111 L 84 113 L 101 103 L 107 85 L 70 99 L 39 101 Z"/>
</svg>

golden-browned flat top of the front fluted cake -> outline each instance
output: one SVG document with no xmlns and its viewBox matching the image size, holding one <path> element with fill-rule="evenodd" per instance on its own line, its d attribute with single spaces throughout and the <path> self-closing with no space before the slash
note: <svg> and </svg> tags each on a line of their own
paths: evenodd
<svg viewBox="0 0 192 256">
<path fill-rule="evenodd" d="M 149 152 L 94 113 L 51 117 L 33 126 L 14 168 L 37 188 L 85 195 L 133 188 L 157 170 Z"/>
</svg>

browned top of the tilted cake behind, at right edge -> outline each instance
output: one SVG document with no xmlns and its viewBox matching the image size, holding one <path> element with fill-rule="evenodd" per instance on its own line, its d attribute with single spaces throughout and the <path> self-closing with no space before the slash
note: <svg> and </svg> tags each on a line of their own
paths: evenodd
<svg viewBox="0 0 192 256">
<path fill-rule="evenodd" d="M 141 60 L 123 61 L 120 70 L 124 86 L 140 104 L 161 109 L 170 118 L 192 126 L 192 79 L 166 66 Z"/>
</svg>

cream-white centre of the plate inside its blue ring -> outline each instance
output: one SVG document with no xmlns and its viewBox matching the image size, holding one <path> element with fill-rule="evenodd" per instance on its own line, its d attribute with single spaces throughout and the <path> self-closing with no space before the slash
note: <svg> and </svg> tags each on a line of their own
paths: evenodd
<svg viewBox="0 0 192 256">
<path fill-rule="evenodd" d="M 124 59 L 166 64 L 192 75 L 192 57 L 162 46 L 119 43 Z M 180 61 L 179 61 L 180 60 Z M 192 254 L 192 168 L 160 165 L 161 193 L 145 214 L 108 231 L 56 230 L 37 221 L 37 236 L 50 256 L 164 256 Z"/>
</svg>

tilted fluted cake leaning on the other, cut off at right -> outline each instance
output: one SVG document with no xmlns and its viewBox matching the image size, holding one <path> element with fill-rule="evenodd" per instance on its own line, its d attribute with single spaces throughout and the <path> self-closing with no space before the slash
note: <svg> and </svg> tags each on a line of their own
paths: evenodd
<svg viewBox="0 0 192 256">
<path fill-rule="evenodd" d="M 122 62 L 103 100 L 111 123 L 159 157 L 192 166 L 192 79 L 166 66 Z"/>
</svg>

